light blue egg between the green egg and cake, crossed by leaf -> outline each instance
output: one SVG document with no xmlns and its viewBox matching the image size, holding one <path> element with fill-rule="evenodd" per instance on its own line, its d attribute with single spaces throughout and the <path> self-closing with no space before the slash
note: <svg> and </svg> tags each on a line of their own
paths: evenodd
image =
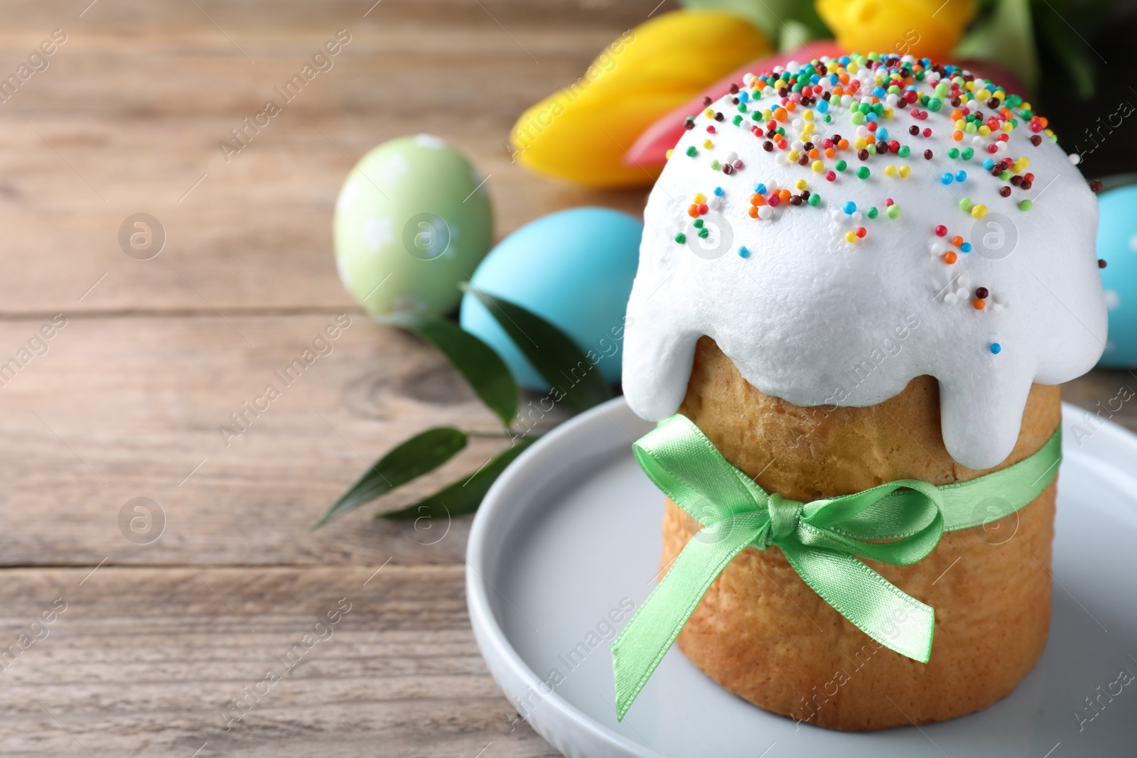
<svg viewBox="0 0 1137 758">
<path fill-rule="evenodd" d="M 473 286 L 517 303 L 572 338 L 604 378 L 620 378 L 624 310 L 636 278 L 644 224 L 608 208 L 572 208 L 525 224 L 478 267 Z M 492 347 L 522 386 L 549 382 L 472 294 L 462 327 Z"/>
</svg>

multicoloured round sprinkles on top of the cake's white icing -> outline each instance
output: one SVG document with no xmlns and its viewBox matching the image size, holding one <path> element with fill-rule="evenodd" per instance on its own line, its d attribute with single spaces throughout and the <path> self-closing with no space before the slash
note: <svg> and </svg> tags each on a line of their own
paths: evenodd
<svg viewBox="0 0 1137 758">
<path fill-rule="evenodd" d="M 1012 206 L 1030 213 L 1038 195 L 1032 192 L 1035 184 L 1043 181 L 1045 185 L 1053 177 L 1036 180 L 1029 170 L 1030 157 L 1023 153 L 1044 141 L 1056 141 L 1046 118 L 1034 113 L 1029 102 L 989 80 L 927 58 L 877 53 L 822 58 L 747 74 L 724 98 L 705 98 L 704 109 L 687 117 L 683 128 L 697 130 L 684 138 L 683 153 L 696 166 L 715 172 L 715 177 L 708 177 L 705 193 L 690 198 L 687 217 L 681 219 L 683 231 L 674 234 L 675 243 L 683 244 L 691 228 L 705 238 L 704 216 L 719 210 L 740 213 L 739 205 L 754 223 L 777 223 L 783 213 L 808 213 L 803 209 L 824 205 L 815 185 L 825 183 L 830 188 L 825 192 L 830 223 L 846 242 L 871 255 L 880 244 L 888 244 L 887 236 L 883 241 L 874 236 L 878 227 L 873 225 L 901 219 L 901 206 L 893 198 L 870 195 L 874 205 L 858 207 L 854 200 L 839 199 L 840 192 L 835 199 L 833 190 L 854 181 L 880 188 L 883 195 L 891 182 L 933 183 L 949 192 L 960 209 L 930 230 L 930 265 L 945 274 L 958 272 L 939 300 L 966 306 L 977 317 L 1006 307 L 1006 300 L 988 286 L 970 285 L 961 261 L 973 247 L 960 231 L 970 234 L 988 213 Z M 737 143 L 728 132 L 753 134 L 755 148 L 771 153 L 765 159 L 785 167 L 779 177 L 785 178 L 788 172 L 792 178 L 783 184 L 761 175 L 749 178 L 754 168 L 747 168 L 738 153 L 716 145 L 716 140 Z M 1016 138 L 1013 147 L 1011 135 L 1021 133 L 1027 138 Z M 939 151 L 955 165 L 935 174 L 920 158 L 931 160 Z M 1098 192 L 1102 188 L 1092 182 L 1090 189 Z M 864 190 L 858 192 L 857 197 L 865 197 Z M 805 218 L 825 223 L 824 216 Z M 738 247 L 737 253 L 742 259 L 750 257 L 746 245 Z M 993 355 L 1002 350 L 995 341 L 987 348 Z"/>
</svg>

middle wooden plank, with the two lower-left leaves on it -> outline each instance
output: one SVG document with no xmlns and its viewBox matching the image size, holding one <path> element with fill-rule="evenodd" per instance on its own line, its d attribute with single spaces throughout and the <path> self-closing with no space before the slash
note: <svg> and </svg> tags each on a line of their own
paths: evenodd
<svg viewBox="0 0 1137 758">
<path fill-rule="evenodd" d="M 412 434 L 435 425 L 499 428 L 433 350 L 350 318 L 331 352 L 290 384 L 277 372 L 335 317 L 69 319 L 45 355 L 0 388 L 0 564 L 462 561 L 468 517 L 391 523 L 368 518 L 373 509 L 364 507 L 307 531 Z M 0 365 L 43 323 L 0 322 Z M 244 403 L 269 384 L 279 399 L 249 415 Z M 244 414 L 247 431 L 234 413 Z M 503 442 L 472 441 L 384 507 L 464 478 Z M 167 517 L 151 544 L 134 544 L 119 528 L 119 511 L 136 497 Z"/>
</svg>

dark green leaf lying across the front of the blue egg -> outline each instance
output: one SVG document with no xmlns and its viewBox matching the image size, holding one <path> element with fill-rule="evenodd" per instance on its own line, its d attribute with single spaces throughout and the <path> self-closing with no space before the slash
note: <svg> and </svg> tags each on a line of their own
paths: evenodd
<svg viewBox="0 0 1137 758">
<path fill-rule="evenodd" d="M 485 306 L 537 373 L 553 386 L 555 400 L 579 414 L 612 398 L 612 388 L 604 375 L 564 332 L 508 300 L 470 285 L 463 289 Z"/>
</svg>

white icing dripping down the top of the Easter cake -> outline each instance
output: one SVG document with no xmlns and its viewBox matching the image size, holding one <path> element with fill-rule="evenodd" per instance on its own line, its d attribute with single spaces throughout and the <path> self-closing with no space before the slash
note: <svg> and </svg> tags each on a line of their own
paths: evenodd
<svg viewBox="0 0 1137 758">
<path fill-rule="evenodd" d="M 930 93 L 931 84 L 919 83 L 919 91 Z M 866 85 L 872 89 L 871 81 Z M 747 105 L 780 103 L 771 90 L 765 93 Z M 1031 144 L 1026 124 L 1012 130 L 1006 149 L 993 156 L 986 145 L 995 134 L 953 142 L 949 102 L 927 120 L 911 116 L 911 106 L 897 107 L 880 125 L 889 140 L 908 145 L 911 156 L 890 152 L 861 161 L 852 145 L 857 127 L 835 98 L 831 124 L 815 113 L 814 142 L 840 134 L 850 145 L 832 159 L 822 157 L 825 170 L 838 159 L 848 163 L 829 182 L 811 166 L 787 161 L 785 151 L 766 152 L 765 136 L 756 138 L 747 122 L 733 125 L 738 110 L 730 97 L 712 106 L 724 120 L 696 117 L 648 199 L 623 356 L 623 389 L 632 410 L 648 419 L 677 410 L 695 343 L 706 334 L 750 384 L 799 406 L 871 406 L 899 393 L 913 377 L 935 376 L 948 452 L 972 468 L 997 465 L 1018 439 L 1031 382 L 1057 384 L 1079 376 L 1097 363 L 1105 344 L 1094 251 L 1097 202 L 1086 180 L 1045 135 L 1040 145 Z M 991 113 L 986 103 L 977 105 Z M 802 114 L 798 107 L 783 124 L 791 143 L 798 132 L 794 119 Z M 753 108 L 750 115 L 756 115 Z M 910 135 L 912 124 L 930 127 L 932 135 Z M 708 134 L 707 125 L 716 133 Z M 706 139 L 713 148 L 704 148 Z M 698 150 L 695 158 L 686 155 L 690 145 Z M 951 159 L 951 147 L 973 147 L 976 155 L 968 161 Z M 923 157 L 928 148 L 935 153 L 930 160 Z M 730 152 L 741 158 L 741 169 L 727 175 L 711 167 L 712 159 L 724 160 Z M 1032 186 L 1014 186 L 1003 198 L 999 189 L 1009 182 L 991 176 L 982 161 L 1020 156 L 1030 159 L 1023 173 L 1035 174 Z M 886 176 L 888 165 L 910 166 L 911 174 Z M 870 168 L 870 178 L 856 177 L 861 166 Z M 941 184 L 943 173 L 961 169 L 968 173 L 962 184 Z M 747 215 L 758 183 L 797 193 L 799 178 L 820 193 L 820 206 L 764 206 L 772 210 L 769 219 Z M 716 186 L 721 198 L 713 194 Z M 707 226 L 715 226 L 714 214 L 724 222 L 706 240 L 696 238 L 688 215 L 698 192 L 712 206 L 703 217 Z M 985 205 L 988 215 L 976 219 L 961 209 L 964 197 Z M 886 198 L 901 207 L 898 218 L 886 216 Z M 1019 209 L 1023 199 L 1034 202 L 1031 210 Z M 856 203 L 854 216 L 843 211 L 848 200 Z M 872 206 L 880 211 L 874 219 L 866 215 Z M 940 224 L 947 226 L 946 238 L 933 232 Z M 846 241 L 857 226 L 866 236 Z M 980 238 L 994 235 L 987 240 L 997 244 L 999 227 L 1007 235 L 1004 247 L 987 255 L 951 244 L 955 235 L 977 248 Z M 723 230 L 732 242 L 714 257 Z M 678 233 L 686 233 L 688 243 L 675 242 Z M 1016 245 L 998 258 L 1012 235 Z M 689 247 L 692 240 L 702 255 Z M 748 258 L 739 256 L 741 245 Z M 957 252 L 954 265 L 944 261 L 946 250 Z M 982 310 L 972 305 L 980 286 L 990 292 Z M 1002 347 L 998 355 L 990 350 L 993 342 Z"/>
</svg>

